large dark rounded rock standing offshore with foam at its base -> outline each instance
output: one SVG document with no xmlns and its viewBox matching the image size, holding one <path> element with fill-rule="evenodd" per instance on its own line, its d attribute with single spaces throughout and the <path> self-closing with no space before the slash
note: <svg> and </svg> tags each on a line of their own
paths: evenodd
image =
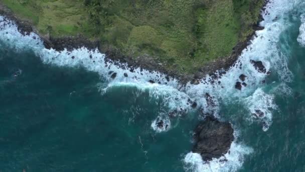
<svg viewBox="0 0 305 172">
<path fill-rule="evenodd" d="M 219 158 L 226 154 L 234 140 L 233 128 L 228 122 L 220 122 L 207 116 L 195 129 L 193 152 L 200 153 L 203 160 Z"/>
</svg>

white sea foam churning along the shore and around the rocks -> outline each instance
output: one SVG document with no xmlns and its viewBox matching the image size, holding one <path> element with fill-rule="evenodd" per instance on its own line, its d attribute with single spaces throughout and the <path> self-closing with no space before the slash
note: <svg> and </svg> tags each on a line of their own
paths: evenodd
<svg viewBox="0 0 305 172">
<path fill-rule="evenodd" d="M 290 22 L 286 17 L 287 13 L 298 8 L 300 3 L 303 3 L 303 1 L 270 1 L 266 12 L 263 14 L 264 21 L 261 22 L 265 29 L 256 32 L 257 37 L 251 41 L 251 45 L 247 49 L 243 50 L 236 65 L 232 66 L 221 78 L 214 79 L 215 82 L 213 84 L 208 81 L 211 76 L 207 76 L 205 80 L 200 80 L 201 83 L 198 85 L 188 83 L 184 88 L 185 93 L 179 91 L 182 86 L 176 79 L 168 81 L 165 75 L 160 72 L 149 72 L 139 68 L 131 72 L 126 64 L 117 66 L 111 62 L 106 62 L 105 55 L 98 52 L 98 50 L 89 51 L 86 48 L 75 49 L 71 52 L 67 50 L 61 52 L 53 49 L 48 50 L 44 48 L 43 42 L 38 38 L 38 35 L 30 33 L 30 35 L 23 36 L 18 32 L 14 22 L 4 21 L 4 17 L 1 16 L 0 40 L 10 44 L 16 50 L 32 49 L 46 64 L 83 67 L 89 71 L 98 72 L 108 80 L 107 85 L 101 88 L 103 92 L 107 92 L 111 87 L 120 87 L 122 85 L 136 87 L 139 91 L 148 90 L 150 97 L 163 99 L 164 105 L 169 107 L 169 112 L 181 109 L 183 111 L 190 110 L 188 105 L 188 99 L 190 99 L 197 102 L 197 107 L 202 107 L 205 113 L 212 113 L 216 117 L 221 117 L 218 114 L 220 103 L 230 104 L 234 101 L 242 102 L 246 100 L 245 106 L 249 109 L 249 116 L 253 112 L 255 113 L 256 109 L 259 109 L 264 113 L 264 116 L 257 120 L 264 120 L 269 126 L 272 123 L 272 111 L 275 109 L 273 93 L 264 93 L 262 89 L 258 89 L 264 87 L 262 81 L 265 79 L 266 73 L 258 72 L 253 64 L 250 63 L 250 60 L 262 61 L 266 70 L 271 70 L 272 73 L 277 74 L 282 82 L 292 81 L 293 75 L 287 67 L 289 57 L 280 52 L 278 42 L 280 34 L 290 26 Z M 74 56 L 73 59 L 72 56 Z M 117 76 L 111 79 L 109 72 L 115 72 Z M 128 77 L 125 77 L 124 73 Z M 247 76 L 245 80 L 247 86 L 242 86 L 241 91 L 234 88 L 236 81 L 240 81 L 238 78 L 240 74 Z M 149 83 L 148 80 L 154 80 L 156 83 Z M 206 93 L 213 100 L 213 105 L 207 101 Z M 170 126 L 171 121 L 166 115 L 169 112 L 161 113 L 157 116 L 165 119 L 165 121 L 168 120 Z M 158 117 L 152 122 L 151 127 L 157 132 L 166 131 L 159 131 L 158 127 L 156 128 Z M 263 129 L 266 130 L 267 127 Z M 185 161 L 188 164 L 193 164 L 194 168 L 190 170 L 194 171 L 235 171 L 242 165 L 244 155 L 249 154 L 251 149 L 233 142 L 230 152 L 230 154 L 225 155 L 228 161 L 223 161 L 222 158 L 219 158 L 207 163 L 203 162 L 201 157 L 199 158 L 198 154 L 194 153 L 188 154 Z"/>
</svg>

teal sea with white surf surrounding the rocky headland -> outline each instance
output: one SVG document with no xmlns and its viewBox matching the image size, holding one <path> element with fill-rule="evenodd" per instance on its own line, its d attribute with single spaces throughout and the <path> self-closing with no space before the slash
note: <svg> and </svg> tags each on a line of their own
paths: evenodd
<svg viewBox="0 0 305 172">
<path fill-rule="evenodd" d="M 0 17 L 0 170 L 305 170 L 305 2 L 267 7 L 265 29 L 234 67 L 214 84 L 185 88 L 158 72 L 105 63 L 97 51 L 47 50 L 37 35 L 22 36 Z M 250 59 L 271 74 L 259 73 Z M 241 91 L 234 88 L 240 74 L 247 75 Z M 235 129 L 230 153 L 209 163 L 190 152 L 202 108 Z M 252 115 L 257 109 L 263 117 Z M 158 118 L 168 127 L 158 129 Z"/>
</svg>

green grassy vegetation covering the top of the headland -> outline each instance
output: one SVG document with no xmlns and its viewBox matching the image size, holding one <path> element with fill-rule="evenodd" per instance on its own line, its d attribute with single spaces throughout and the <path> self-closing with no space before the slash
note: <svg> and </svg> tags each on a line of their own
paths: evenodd
<svg viewBox="0 0 305 172">
<path fill-rule="evenodd" d="M 228 56 L 253 33 L 263 0 L 2 0 L 51 36 L 81 33 L 184 73 Z"/>
</svg>

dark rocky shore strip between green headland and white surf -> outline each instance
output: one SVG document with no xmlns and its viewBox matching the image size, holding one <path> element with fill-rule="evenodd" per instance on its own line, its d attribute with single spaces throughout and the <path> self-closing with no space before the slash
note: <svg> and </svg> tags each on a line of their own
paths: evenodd
<svg viewBox="0 0 305 172">
<path fill-rule="evenodd" d="M 265 6 L 268 3 L 268 0 L 264 1 L 264 4 L 261 8 L 261 11 L 265 10 Z M 180 73 L 178 71 L 174 71 L 166 68 L 163 64 L 158 60 L 158 57 L 142 55 L 136 58 L 132 58 L 130 56 L 125 56 L 118 49 L 107 49 L 106 51 L 101 50 L 99 41 L 91 41 L 88 38 L 78 35 L 78 36 L 69 36 L 62 38 L 52 38 L 49 35 L 40 34 L 37 29 L 33 26 L 33 24 L 29 21 L 22 20 L 18 18 L 14 13 L 8 9 L 5 5 L 0 2 L 0 15 L 7 17 L 8 19 L 16 22 L 18 26 L 19 32 L 22 34 L 29 34 L 31 32 L 36 33 L 43 40 L 44 46 L 47 49 L 55 49 L 57 51 L 62 51 L 67 49 L 69 51 L 81 47 L 86 47 L 89 50 L 93 50 L 98 48 L 99 52 L 105 54 L 105 59 L 107 61 L 112 61 L 115 64 L 127 63 L 128 67 L 131 68 L 143 68 L 148 71 L 159 71 L 167 74 L 170 77 L 176 78 L 180 83 L 186 84 L 187 82 L 191 82 L 192 84 L 198 84 L 201 78 L 204 78 L 207 74 L 214 76 L 217 78 L 218 76 L 215 72 L 218 70 L 218 75 L 225 73 L 232 65 L 234 65 L 241 55 L 242 51 L 251 43 L 251 40 L 255 37 L 255 33 L 257 30 L 264 29 L 259 26 L 258 23 L 263 20 L 261 14 L 259 16 L 259 21 L 257 21 L 256 25 L 253 25 L 253 33 L 247 37 L 244 42 L 239 42 L 232 49 L 232 53 L 230 56 L 220 57 L 214 61 L 207 62 L 200 69 L 192 74 Z"/>
</svg>

